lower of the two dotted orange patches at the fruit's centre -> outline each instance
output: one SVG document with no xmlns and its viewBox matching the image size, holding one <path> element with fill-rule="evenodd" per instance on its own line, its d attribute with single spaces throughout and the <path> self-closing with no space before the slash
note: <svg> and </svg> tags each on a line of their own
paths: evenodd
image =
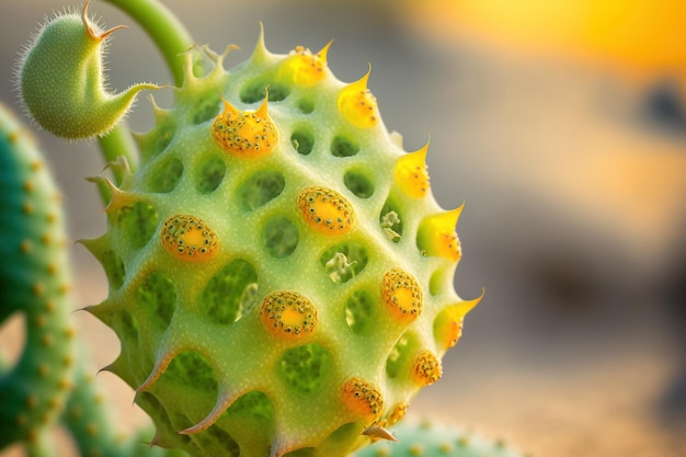
<svg viewBox="0 0 686 457">
<path fill-rule="evenodd" d="M 317 308 L 297 292 L 273 292 L 262 301 L 262 323 L 274 335 L 297 340 L 315 332 Z"/>
</svg>

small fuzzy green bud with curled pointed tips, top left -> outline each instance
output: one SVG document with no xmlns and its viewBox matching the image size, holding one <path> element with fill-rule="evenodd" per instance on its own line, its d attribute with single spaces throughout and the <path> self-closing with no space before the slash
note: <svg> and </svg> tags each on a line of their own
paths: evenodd
<svg viewBox="0 0 686 457">
<path fill-rule="evenodd" d="M 159 89 L 140 83 L 111 93 L 103 75 L 106 38 L 123 25 L 102 31 L 72 12 L 48 21 L 21 58 L 21 98 L 33 118 L 49 133 L 70 139 L 107 134 L 130 108 L 138 92 Z"/>
</svg>

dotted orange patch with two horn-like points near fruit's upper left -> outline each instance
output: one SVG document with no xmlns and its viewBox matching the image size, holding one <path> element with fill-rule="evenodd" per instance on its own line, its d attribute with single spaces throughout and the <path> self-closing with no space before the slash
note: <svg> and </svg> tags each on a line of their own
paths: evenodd
<svg viewBox="0 0 686 457">
<path fill-rule="evenodd" d="M 267 98 L 256 111 L 240 111 L 224 100 L 224 111 L 211 124 L 211 136 L 235 157 L 251 159 L 270 153 L 278 135 L 267 114 Z"/>
</svg>

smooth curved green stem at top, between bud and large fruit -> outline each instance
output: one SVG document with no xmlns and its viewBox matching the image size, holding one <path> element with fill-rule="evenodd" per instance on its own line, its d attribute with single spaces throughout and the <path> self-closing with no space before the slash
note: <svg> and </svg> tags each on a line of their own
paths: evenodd
<svg viewBox="0 0 686 457">
<path fill-rule="evenodd" d="M 183 83 L 183 61 L 179 55 L 192 44 L 193 38 L 179 19 L 157 0 L 105 0 L 127 13 L 145 30 L 162 53 L 174 83 Z"/>
</svg>

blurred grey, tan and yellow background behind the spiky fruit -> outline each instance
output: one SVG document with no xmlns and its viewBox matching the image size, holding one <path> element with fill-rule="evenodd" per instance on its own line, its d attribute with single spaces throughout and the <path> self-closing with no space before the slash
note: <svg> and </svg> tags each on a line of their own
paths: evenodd
<svg viewBox="0 0 686 457">
<path fill-rule="evenodd" d="M 502 438 L 535 456 L 686 455 L 686 3 L 677 0 L 168 0 L 198 43 L 319 50 L 369 88 L 407 150 L 431 134 L 428 169 L 458 224 L 464 298 L 485 287 L 444 377 L 410 412 Z M 0 101 L 14 105 L 13 66 L 61 0 L 0 3 Z M 132 20 L 94 1 L 116 32 L 110 83 L 170 76 Z M 171 90 L 156 93 L 162 106 Z M 128 121 L 145 132 L 150 104 Z M 73 239 L 104 230 L 84 176 L 94 141 L 37 134 L 66 196 Z M 106 296 L 105 277 L 73 247 L 77 304 Z M 76 313 L 100 368 L 118 343 Z M 21 322 L 0 328 L 18 353 Z M 117 378 L 98 382 L 118 426 L 146 421 Z M 57 455 L 68 456 L 66 450 Z M 19 449 L 0 453 L 21 455 Z"/>
</svg>

